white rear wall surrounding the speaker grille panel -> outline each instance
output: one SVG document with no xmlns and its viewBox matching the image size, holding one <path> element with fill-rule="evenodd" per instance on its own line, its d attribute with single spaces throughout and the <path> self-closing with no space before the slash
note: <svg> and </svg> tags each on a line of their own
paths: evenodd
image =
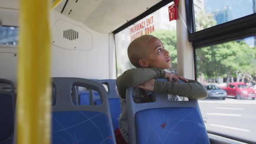
<svg viewBox="0 0 256 144">
<path fill-rule="evenodd" d="M 62 49 L 53 45 L 52 77 L 109 79 L 108 34 L 95 32 L 83 23 L 72 20 L 53 10 L 51 12 L 52 26 L 59 19 L 80 26 L 91 33 L 93 49 L 90 51 Z M 89 47 L 88 45 L 90 43 L 85 43 L 85 46 Z"/>
</svg>

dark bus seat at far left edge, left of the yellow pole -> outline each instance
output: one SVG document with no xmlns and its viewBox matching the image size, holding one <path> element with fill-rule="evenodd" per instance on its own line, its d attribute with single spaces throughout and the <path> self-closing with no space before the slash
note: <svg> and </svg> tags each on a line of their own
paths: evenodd
<svg viewBox="0 0 256 144">
<path fill-rule="evenodd" d="M 7 79 L 0 83 L 10 85 L 10 91 L 0 89 L 0 144 L 13 144 L 14 133 L 14 84 Z"/>
</svg>

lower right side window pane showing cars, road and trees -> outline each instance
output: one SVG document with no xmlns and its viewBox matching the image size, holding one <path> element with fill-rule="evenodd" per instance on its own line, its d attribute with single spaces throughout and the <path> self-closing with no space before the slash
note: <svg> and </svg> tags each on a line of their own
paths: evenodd
<svg viewBox="0 0 256 144">
<path fill-rule="evenodd" d="M 197 80 L 208 86 L 199 105 L 207 131 L 256 142 L 256 46 L 246 39 L 255 37 L 196 49 Z"/>
</svg>

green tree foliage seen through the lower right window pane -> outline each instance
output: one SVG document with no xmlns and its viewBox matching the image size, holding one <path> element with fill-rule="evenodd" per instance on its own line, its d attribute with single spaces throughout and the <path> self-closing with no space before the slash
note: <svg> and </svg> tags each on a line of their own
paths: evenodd
<svg viewBox="0 0 256 144">
<path fill-rule="evenodd" d="M 237 71 L 255 74 L 256 49 L 243 41 L 227 42 L 196 50 L 197 70 L 206 78 L 226 77 Z"/>
</svg>

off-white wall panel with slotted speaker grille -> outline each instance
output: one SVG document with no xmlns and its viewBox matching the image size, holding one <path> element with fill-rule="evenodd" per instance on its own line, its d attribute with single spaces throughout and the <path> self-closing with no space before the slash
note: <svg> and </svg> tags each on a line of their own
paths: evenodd
<svg viewBox="0 0 256 144">
<path fill-rule="evenodd" d="M 91 50 L 93 48 L 92 34 L 81 26 L 69 21 L 56 20 L 52 33 L 52 44 L 54 46 L 76 50 Z"/>
</svg>

